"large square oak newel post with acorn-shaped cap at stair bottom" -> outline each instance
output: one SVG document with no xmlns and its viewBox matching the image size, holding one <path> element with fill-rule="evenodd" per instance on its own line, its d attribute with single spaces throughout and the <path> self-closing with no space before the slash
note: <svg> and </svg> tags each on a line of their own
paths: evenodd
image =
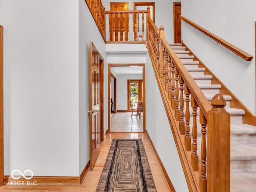
<svg viewBox="0 0 256 192">
<path fill-rule="evenodd" d="M 230 114 L 226 100 L 216 94 L 208 112 L 207 191 L 230 191 Z"/>
</svg>

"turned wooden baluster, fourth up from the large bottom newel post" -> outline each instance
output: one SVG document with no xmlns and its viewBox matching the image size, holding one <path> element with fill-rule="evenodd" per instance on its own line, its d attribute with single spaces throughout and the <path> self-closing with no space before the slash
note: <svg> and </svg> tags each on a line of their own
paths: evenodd
<svg viewBox="0 0 256 192">
<path fill-rule="evenodd" d="M 183 80 L 182 76 L 180 75 L 180 125 L 179 125 L 179 130 L 180 130 L 180 134 L 182 134 L 182 135 L 185 134 L 183 90 L 184 90 L 184 80 Z"/>
</svg>

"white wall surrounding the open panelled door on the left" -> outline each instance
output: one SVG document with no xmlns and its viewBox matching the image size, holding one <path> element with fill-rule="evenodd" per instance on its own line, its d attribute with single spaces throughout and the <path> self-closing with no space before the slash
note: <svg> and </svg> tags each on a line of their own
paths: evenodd
<svg viewBox="0 0 256 192">
<path fill-rule="evenodd" d="M 88 30 L 90 28 L 90 30 Z M 105 42 L 84 0 L 79 0 L 79 173 L 90 159 L 90 41 L 104 58 L 104 132 L 107 125 L 107 57 Z"/>
</svg>

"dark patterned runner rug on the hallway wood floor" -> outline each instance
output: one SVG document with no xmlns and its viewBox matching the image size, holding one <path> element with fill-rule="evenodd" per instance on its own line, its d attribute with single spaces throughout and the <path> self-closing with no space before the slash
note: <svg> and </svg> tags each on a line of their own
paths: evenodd
<svg viewBox="0 0 256 192">
<path fill-rule="evenodd" d="M 96 192 L 156 192 L 141 139 L 113 139 Z"/>
</svg>

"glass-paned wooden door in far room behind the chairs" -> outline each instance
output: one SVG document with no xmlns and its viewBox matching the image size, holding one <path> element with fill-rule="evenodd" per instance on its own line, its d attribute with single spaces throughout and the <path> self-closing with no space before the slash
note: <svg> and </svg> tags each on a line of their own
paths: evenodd
<svg viewBox="0 0 256 192">
<path fill-rule="evenodd" d="M 137 107 L 138 101 L 143 100 L 143 81 L 142 80 L 127 80 L 128 84 L 128 111 L 132 111 L 130 101 L 132 101 L 134 108 Z"/>
</svg>

